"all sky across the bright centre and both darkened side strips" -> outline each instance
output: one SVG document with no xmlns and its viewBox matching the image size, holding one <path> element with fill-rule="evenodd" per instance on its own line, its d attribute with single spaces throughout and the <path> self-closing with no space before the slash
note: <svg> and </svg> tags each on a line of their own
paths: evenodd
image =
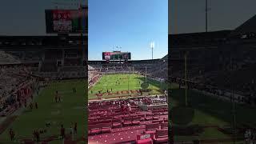
<svg viewBox="0 0 256 144">
<path fill-rule="evenodd" d="M 53 9 L 53 2 L 86 0 L 2 0 L 0 35 L 46 35 L 45 9 Z M 89 58 L 101 59 L 112 46 L 122 46 L 134 59 L 151 58 L 151 40 L 154 58 L 161 58 L 167 53 L 167 15 L 169 34 L 204 31 L 204 2 L 171 0 L 167 14 L 167 0 L 89 0 Z M 233 30 L 256 14 L 255 0 L 209 0 L 209 5 L 211 31 Z"/>
</svg>

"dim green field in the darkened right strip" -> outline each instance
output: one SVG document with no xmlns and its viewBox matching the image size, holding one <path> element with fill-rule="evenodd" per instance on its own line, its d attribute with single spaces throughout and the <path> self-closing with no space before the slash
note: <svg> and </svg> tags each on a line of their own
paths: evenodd
<svg viewBox="0 0 256 144">
<path fill-rule="evenodd" d="M 233 122 L 232 103 L 221 99 L 212 98 L 198 91 L 188 90 L 188 103 L 195 110 L 194 118 L 190 124 L 200 126 L 231 126 Z M 185 103 L 185 89 L 178 89 L 178 85 L 172 84 L 172 93 L 170 96 L 170 111 L 173 106 L 181 106 Z M 236 104 L 236 125 L 243 124 L 256 127 L 256 108 Z M 241 135 L 240 135 L 241 136 Z M 222 134 L 214 128 L 206 128 L 199 136 L 175 136 L 178 141 L 199 139 L 218 139 L 230 138 L 230 135 Z"/>
</svg>

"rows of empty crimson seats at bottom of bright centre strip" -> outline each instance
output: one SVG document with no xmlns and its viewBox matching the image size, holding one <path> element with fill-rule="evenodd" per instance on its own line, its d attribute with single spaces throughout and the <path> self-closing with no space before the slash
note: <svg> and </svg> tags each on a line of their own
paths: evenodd
<svg viewBox="0 0 256 144">
<path fill-rule="evenodd" d="M 130 98 L 126 100 L 109 100 L 89 102 L 89 122 L 88 134 L 89 142 L 109 141 L 109 139 L 120 138 L 118 142 L 137 142 L 147 143 L 154 142 L 156 130 L 167 130 L 168 123 L 166 118 L 168 114 L 158 114 L 158 119 L 153 120 L 154 114 L 152 110 L 141 110 L 136 104 L 137 101 L 149 102 L 150 98 Z M 129 102 L 132 110 L 122 110 L 118 103 L 125 105 Z M 125 105 L 126 106 L 126 105 Z M 166 107 L 157 110 L 166 110 Z M 158 122 L 154 122 L 158 121 Z M 130 133 L 130 134 L 129 134 Z M 119 135 L 120 134 L 120 135 Z M 135 135 L 134 135 L 135 134 Z M 149 139 L 136 139 L 141 134 L 152 134 Z M 118 136 L 117 136 L 118 135 Z M 161 135 L 160 135 L 161 136 Z"/>
</svg>

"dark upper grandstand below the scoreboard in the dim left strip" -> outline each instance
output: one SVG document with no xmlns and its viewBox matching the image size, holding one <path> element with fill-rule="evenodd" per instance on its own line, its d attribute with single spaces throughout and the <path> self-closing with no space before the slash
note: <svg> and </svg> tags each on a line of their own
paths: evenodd
<svg viewBox="0 0 256 144">
<path fill-rule="evenodd" d="M 86 78 L 86 44 L 85 35 L 0 36 L 5 54 L 47 78 Z"/>
</svg>

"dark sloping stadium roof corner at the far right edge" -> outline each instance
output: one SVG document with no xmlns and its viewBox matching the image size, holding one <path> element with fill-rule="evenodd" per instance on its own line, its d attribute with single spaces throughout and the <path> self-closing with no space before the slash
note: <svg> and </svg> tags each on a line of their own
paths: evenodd
<svg viewBox="0 0 256 144">
<path fill-rule="evenodd" d="M 230 35 L 234 36 L 248 33 L 256 33 L 256 15 L 244 22 L 241 26 L 238 26 Z"/>
</svg>

